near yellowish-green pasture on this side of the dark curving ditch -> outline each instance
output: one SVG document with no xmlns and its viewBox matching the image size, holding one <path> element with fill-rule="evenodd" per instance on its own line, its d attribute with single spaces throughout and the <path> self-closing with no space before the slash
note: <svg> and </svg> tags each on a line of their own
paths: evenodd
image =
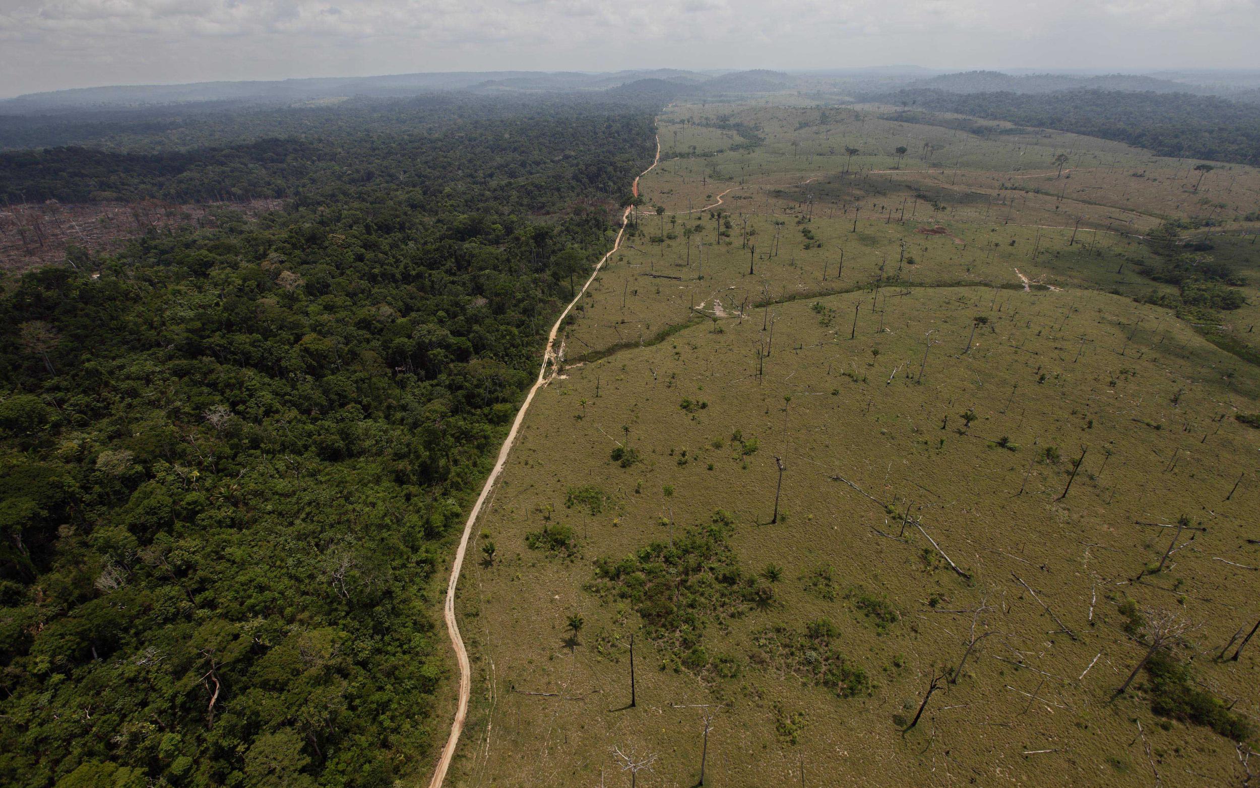
<svg viewBox="0 0 1260 788">
<path fill-rule="evenodd" d="M 692 784 L 698 711 L 675 706 L 718 702 L 726 707 L 711 739 L 713 784 L 795 780 L 801 759 L 814 768 L 810 784 L 829 784 L 825 774 L 905 784 L 942 770 L 949 750 L 950 769 L 987 779 L 1140 785 L 1149 768 L 1140 745 L 1129 745 L 1135 716 L 1164 753 L 1166 783 L 1201 784 L 1183 767 L 1228 779 L 1227 741 L 1181 724 L 1164 730 L 1138 697 L 1106 701 L 1142 651 L 1120 629 L 1125 599 L 1202 622 L 1186 655 L 1218 648 L 1242 623 L 1254 573 L 1215 558 L 1260 564 L 1260 549 L 1245 541 L 1255 536 L 1249 512 L 1257 491 L 1223 501 L 1260 448 L 1257 433 L 1232 418 L 1254 407 L 1239 393 L 1255 385 L 1254 373 L 1179 324 L 1153 330 L 1158 310 L 1116 296 L 1019 291 L 998 311 L 988 288 L 883 292 L 882 332 L 866 293 L 771 307 L 775 339 L 761 379 L 755 347 L 769 331 L 760 320 L 723 320 L 721 332 L 697 325 L 573 368 L 541 395 L 481 524 L 498 558 L 470 570 L 465 587 L 472 653 L 481 681 L 495 687 L 488 755 L 469 764 L 470 778 L 481 769 L 504 784 L 585 784 L 601 767 L 615 768 L 616 744 L 660 754 L 649 784 Z M 861 331 L 850 340 L 854 306 Z M 975 316 L 990 322 L 964 354 Z M 1152 329 L 1129 339 L 1139 318 Z M 925 336 L 940 342 L 926 364 Z M 1076 360 L 1079 336 L 1089 341 Z M 1239 375 L 1227 379 L 1225 370 Z M 704 407 L 688 410 L 685 399 Z M 968 410 L 978 418 L 960 432 Z M 643 457 L 629 468 L 610 459 L 626 441 L 622 425 Z M 756 438 L 757 451 L 745 454 L 732 442 L 736 431 Z M 1000 448 L 1004 437 L 1018 448 Z M 1090 451 L 1077 480 L 1056 500 L 1082 446 Z M 1046 459 L 1048 447 L 1057 459 Z M 1168 471 L 1174 452 L 1181 459 Z M 770 525 L 775 456 L 788 468 L 786 516 Z M 598 514 L 566 507 L 583 487 L 607 496 Z M 950 571 L 916 529 L 906 541 L 876 532 L 896 536 L 907 509 L 970 580 Z M 740 565 L 760 573 L 776 564 L 781 575 L 765 609 L 703 622 L 709 662 L 693 670 L 687 653 L 644 634 L 625 600 L 586 588 L 595 559 L 668 543 L 716 510 L 731 514 Z M 1133 583 L 1168 539 L 1166 529 L 1135 521 L 1176 522 L 1183 514 L 1208 531 L 1174 554 L 1173 566 Z M 576 555 L 525 545 L 547 524 L 573 530 Z M 829 593 L 810 590 L 822 568 Z M 1057 624 L 1012 573 L 1079 639 L 1051 633 Z M 856 588 L 887 599 L 898 619 L 877 628 L 857 607 Z M 959 682 L 902 739 L 893 715 L 912 714 L 930 673 L 956 666 L 965 650 L 971 614 L 946 611 L 974 609 L 980 599 L 993 605 L 982 632 L 1002 634 L 982 642 Z M 575 613 L 585 627 L 568 647 L 564 626 Z M 871 676 L 868 694 L 838 699 L 766 662 L 756 644 L 774 624 L 823 618 L 839 627 L 845 657 Z M 639 707 L 615 711 L 627 699 L 631 632 L 640 638 Z M 709 670 L 719 658 L 737 673 Z M 1255 712 L 1254 658 L 1203 657 L 1196 666 L 1222 696 Z M 1042 700 L 1029 707 L 1021 692 Z M 484 704 L 476 710 L 491 714 Z M 798 712 L 803 729 L 793 744 L 781 729 Z M 1021 754 L 1036 749 L 1063 751 Z"/>
</svg>

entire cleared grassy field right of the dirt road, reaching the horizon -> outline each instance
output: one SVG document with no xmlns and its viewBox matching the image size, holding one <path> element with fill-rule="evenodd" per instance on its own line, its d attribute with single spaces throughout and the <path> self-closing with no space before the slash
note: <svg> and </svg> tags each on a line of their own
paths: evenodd
<svg viewBox="0 0 1260 788">
<path fill-rule="evenodd" d="M 706 724 L 712 785 L 1241 783 L 1256 293 L 1135 298 L 1202 196 L 1255 268 L 1260 176 L 879 113 L 662 117 L 465 568 L 452 784 L 694 785 Z"/>
</svg>

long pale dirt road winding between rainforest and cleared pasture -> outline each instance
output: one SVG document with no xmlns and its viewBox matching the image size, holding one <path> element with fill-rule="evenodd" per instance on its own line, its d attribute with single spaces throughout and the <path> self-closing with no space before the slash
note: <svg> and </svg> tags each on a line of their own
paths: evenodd
<svg viewBox="0 0 1260 788">
<path fill-rule="evenodd" d="M 634 195 L 639 196 L 639 177 L 643 177 L 660 164 L 660 136 L 656 136 L 656 157 L 653 160 L 651 166 L 639 174 L 634 179 L 631 186 Z M 490 470 L 490 476 L 486 477 L 485 485 L 481 487 L 481 495 L 476 497 L 476 504 L 472 505 L 472 510 L 469 512 L 467 522 L 464 524 L 464 535 L 460 536 L 460 546 L 455 551 L 455 563 L 451 565 L 451 579 L 446 583 L 446 604 L 442 608 L 442 618 L 446 621 L 446 631 L 451 634 L 451 646 L 455 648 L 455 658 L 460 665 L 460 699 L 459 705 L 455 709 L 455 721 L 451 723 L 451 735 L 446 739 L 446 744 L 442 746 L 442 755 L 437 759 L 437 765 L 433 769 L 433 778 L 428 780 L 428 788 L 441 788 L 442 783 L 446 780 L 446 770 L 451 767 L 451 759 L 455 757 L 455 748 L 460 741 L 460 734 L 464 731 L 464 721 L 467 719 L 469 714 L 469 686 L 472 682 L 472 671 L 469 666 L 469 652 L 464 648 L 464 638 L 460 637 L 460 627 L 455 621 L 455 588 L 460 582 L 460 571 L 464 569 L 464 556 L 467 553 L 469 535 L 472 534 L 472 525 L 476 522 L 478 516 L 481 514 L 481 507 L 485 506 L 486 500 L 490 497 L 490 491 L 494 488 L 494 483 L 499 480 L 499 473 L 503 472 L 503 466 L 508 461 L 508 452 L 512 451 L 513 443 L 517 441 L 517 433 L 520 429 L 520 423 L 525 419 L 525 412 L 529 410 L 529 403 L 534 400 L 534 394 L 538 389 L 543 388 L 551 379 L 556 376 L 557 366 L 552 363 L 556 360 L 556 337 L 559 335 L 559 329 L 568 317 L 570 311 L 577 305 L 578 298 L 586 293 L 586 288 L 591 286 L 595 281 L 596 274 L 600 273 L 600 268 L 604 263 L 609 261 L 610 257 L 621 247 L 621 237 L 625 233 L 626 219 L 630 217 L 630 210 L 633 205 L 627 205 L 625 211 L 621 214 L 621 228 L 617 230 L 616 240 L 612 242 L 612 248 L 609 249 L 607 254 L 600 258 L 600 262 L 595 264 L 591 271 L 590 278 L 582 284 L 582 290 L 573 296 L 564 311 L 561 312 L 559 317 L 556 320 L 556 325 L 552 326 L 551 334 L 547 335 L 547 347 L 543 350 L 543 363 L 538 368 L 538 379 L 534 380 L 534 385 L 529 388 L 529 393 L 525 394 L 525 402 L 520 404 L 520 410 L 517 412 L 515 420 L 512 422 L 512 429 L 508 431 L 508 437 L 504 438 L 503 446 L 499 448 L 499 457 L 494 462 L 494 468 Z M 551 368 L 551 374 L 548 374 L 548 368 Z"/>
</svg>

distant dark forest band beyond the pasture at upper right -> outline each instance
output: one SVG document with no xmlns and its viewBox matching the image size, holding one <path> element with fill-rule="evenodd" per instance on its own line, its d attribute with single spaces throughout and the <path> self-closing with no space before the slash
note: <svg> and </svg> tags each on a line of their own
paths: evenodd
<svg viewBox="0 0 1260 788">
<path fill-rule="evenodd" d="M 1256 164 L 1260 161 L 1260 106 L 1211 96 L 1126 91 L 950 93 L 897 91 L 867 96 L 902 108 L 953 112 L 1057 128 L 1144 147 L 1160 156 Z M 914 122 L 911 118 L 905 118 Z"/>
</svg>

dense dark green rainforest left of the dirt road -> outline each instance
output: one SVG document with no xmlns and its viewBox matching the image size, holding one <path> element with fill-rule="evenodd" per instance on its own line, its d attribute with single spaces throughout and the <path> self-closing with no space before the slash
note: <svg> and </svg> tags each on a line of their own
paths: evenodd
<svg viewBox="0 0 1260 788">
<path fill-rule="evenodd" d="M 449 724 L 432 580 L 653 111 L 349 104 L 4 155 L 286 203 L 3 282 L 0 783 L 391 785 Z"/>
</svg>

